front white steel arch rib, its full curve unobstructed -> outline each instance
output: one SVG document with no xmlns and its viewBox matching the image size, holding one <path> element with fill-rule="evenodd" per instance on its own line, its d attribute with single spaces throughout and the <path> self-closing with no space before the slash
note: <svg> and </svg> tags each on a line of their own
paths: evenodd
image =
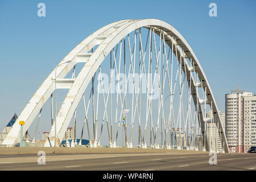
<svg viewBox="0 0 256 182">
<path fill-rule="evenodd" d="M 161 28 L 163 31 L 165 31 L 166 34 L 166 40 L 174 36 L 175 38 L 179 39 L 179 45 L 183 48 L 183 50 L 186 50 L 186 56 L 191 57 L 191 64 L 195 65 L 195 72 L 197 72 L 198 77 L 200 80 L 203 80 L 202 87 L 203 89 L 206 89 L 209 94 L 207 94 L 207 100 L 212 101 L 213 103 L 213 113 L 216 114 L 216 122 L 219 123 L 219 126 L 221 127 L 222 131 L 222 139 L 225 139 L 225 151 L 228 152 L 227 142 L 225 134 L 223 133 L 222 125 L 219 119 L 218 114 L 218 108 L 215 103 L 213 94 L 210 89 L 209 82 L 207 81 L 207 78 L 205 76 L 205 73 L 203 72 L 201 65 L 199 64 L 199 61 L 197 57 L 195 56 L 193 50 L 189 46 L 189 44 L 186 42 L 186 40 L 183 38 L 181 34 L 175 28 L 170 26 L 170 24 L 163 22 L 162 20 L 157 19 L 143 19 L 143 20 L 132 20 L 130 23 L 127 23 L 119 28 L 117 28 L 112 34 L 107 36 L 107 38 L 102 42 L 102 44 L 99 45 L 99 47 L 95 50 L 95 52 L 90 56 L 88 62 L 85 64 L 85 66 L 82 68 L 81 72 L 79 73 L 77 79 L 75 80 L 73 86 L 70 88 L 69 93 L 67 94 L 65 101 L 63 102 L 63 105 L 61 106 L 61 110 L 59 111 L 57 115 L 58 123 L 57 123 L 57 131 L 58 131 L 58 140 L 62 140 L 66 127 L 69 125 L 70 119 L 72 117 L 72 114 L 74 113 L 75 108 L 78 105 L 79 100 L 82 97 L 83 92 L 85 91 L 87 85 L 89 84 L 91 78 L 93 77 L 94 73 L 97 71 L 99 65 L 101 65 L 102 61 L 105 59 L 105 57 L 108 55 L 108 53 L 113 49 L 113 47 L 118 44 L 119 41 L 121 41 L 126 35 L 128 35 L 130 32 L 134 31 L 137 28 L 141 27 L 150 27 L 153 26 L 155 28 Z M 157 33 L 157 32 L 156 32 Z M 174 40 L 172 40 L 174 41 Z M 171 42 L 171 41 L 170 41 Z M 166 42 L 171 46 L 170 43 Z M 182 53 L 182 52 L 179 52 Z M 182 56 L 185 56 L 185 54 L 182 53 Z M 188 65 L 187 65 L 188 67 Z M 182 68 L 183 71 L 184 67 Z M 187 73 L 189 74 L 189 73 Z M 195 83 L 195 82 L 194 82 Z M 195 89 L 195 84 L 191 85 L 192 93 L 197 92 Z M 193 100 L 194 103 L 197 103 L 197 93 L 193 94 Z M 200 107 L 201 108 L 201 107 Z M 202 109 L 199 111 L 199 118 L 201 121 L 201 130 L 205 132 L 205 125 L 204 125 L 204 118 L 202 115 Z M 51 130 L 53 133 L 53 128 Z M 204 139 L 204 137 L 203 137 Z M 51 138 L 51 140 L 54 140 Z M 206 139 L 207 140 L 207 139 Z M 207 142 L 206 142 L 207 143 Z M 47 143 L 45 144 L 47 146 Z M 207 146 L 206 146 L 207 147 Z M 207 147 L 209 150 L 209 147 Z"/>
</svg>

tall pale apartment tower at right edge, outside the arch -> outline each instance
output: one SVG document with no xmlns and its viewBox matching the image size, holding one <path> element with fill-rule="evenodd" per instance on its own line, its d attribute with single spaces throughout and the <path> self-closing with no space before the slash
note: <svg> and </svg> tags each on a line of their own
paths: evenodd
<svg viewBox="0 0 256 182">
<path fill-rule="evenodd" d="M 238 88 L 226 94 L 225 99 L 225 134 L 229 150 L 247 152 L 256 144 L 256 96 Z"/>
</svg>

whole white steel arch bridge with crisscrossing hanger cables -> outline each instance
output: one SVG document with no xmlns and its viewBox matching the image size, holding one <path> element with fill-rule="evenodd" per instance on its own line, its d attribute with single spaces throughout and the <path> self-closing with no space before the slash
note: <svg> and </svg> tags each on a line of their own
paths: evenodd
<svg viewBox="0 0 256 182">
<path fill-rule="evenodd" d="M 78 63 L 82 68 L 76 74 Z M 57 89 L 68 90 L 59 110 Z M 121 20 L 78 44 L 19 115 L 17 120 L 25 121 L 24 135 L 33 121 L 39 122 L 49 99 L 51 130 L 45 147 L 61 146 L 74 121 L 73 140 L 66 146 L 77 144 L 75 128 L 80 127 L 80 138 L 87 134 L 90 147 L 103 140 L 117 147 L 122 140 L 125 147 L 137 143 L 141 148 L 229 152 L 213 92 L 197 57 L 183 36 L 162 20 Z M 76 121 L 79 102 L 85 115 L 81 126 Z M 2 146 L 19 142 L 20 129 L 15 122 Z"/>
</svg>

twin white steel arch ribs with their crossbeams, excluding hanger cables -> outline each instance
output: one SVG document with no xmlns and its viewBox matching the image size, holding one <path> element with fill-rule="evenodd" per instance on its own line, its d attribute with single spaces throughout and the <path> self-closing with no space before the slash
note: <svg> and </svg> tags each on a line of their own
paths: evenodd
<svg viewBox="0 0 256 182">
<path fill-rule="evenodd" d="M 142 20 L 122 20 L 119 22 L 111 23 L 98 31 L 94 32 L 94 34 L 91 34 L 88 38 L 83 40 L 77 47 L 73 49 L 61 61 L 61 63 L 65 63 L 67 60 L 72 60 L 68 64 L 64 64 L 59 66 L 57 71 L 57 78 L 64 78 L 65 75 L 70 71 L 71 68 L 74 67 L 77 63 L 85 63 L 84 67 L 82 68 L 81 72 L 75 78 L 73 84 L 71 84 L 71 87 L 69 89 L 69 93 L 67 93 L 67 96 L 65 98 L 65 101 L 63 102 L 61 109 L 59 110 L 59 113 L 57 114 L 57 141 L 58 145 L 60 144 L 60 141 L 62 141 L 67 126 L 69 126 L 69 123 L 71 121 L 71 118 L 73 117 L 74 111 L 77 108 L 77 105 L 79 101 L 81 100 L 82 94 L 85 92 L 85 89 L 87 85 L 89 84 L 91 78 L 101 65 L 102 61 L 105 59 L 105 57 L 109 54 L 111 49 L 113 49 L 127 34 L 130 32 L 136 30 L 137 28 L 150 28 L 154 27 L 155 30 L 163 30 L 165 35 L 166 43 L 171 46 L 171 41 L 174 42 L 172 37 L 175 39 L 175 44 L 182 47 L 185 52 L 177 49 L 177 53 L 179 55 L 181 54 L 182 57 L 190 59 L 191 64 L 189 65 L 187 61 L 185 61 L 187 69 L 185 70 L 184 67 L 182 67 L 183 71 L 186 71 L 187 74 L 190 76 L 190 71 L 197 72 L 197 75 L 202 81 L 202 84 L 200 85 L 203 89 L 207 90 L 207 101 L 208 103 L 211 102 L 213 110 L 213 113 L 215 114 L 215 120 L 217 123 L 219 123 L 219 127 L 221 129 L 221 135 L 222 135 L 222 142 L 224 143 L 224 149 L 225 152 L 229 152 L 228 146 L 227 146 L 227 140 L 226 136 L 223 132 L 223 127 L 221 124 L 221 120 L 218 113 L 218 107 L 216 105 L 216 102 L 213 97 L 213 93 L 211 91 L 209 82 L 207 81 L 207 78 L 205 76 L 205 73 L 203 72 L 203 69 L 201 65 L 199 64 L 199 61 L 197 57 L 195 56 L 193 50 L 189 46 L 189 44 L 186 42 L 186 40 L 183 38 L 179 32 L 172 27 L 170 24 L 163 22 L 162 20 L 158 19 L 142 19 Z M 159 32 L 155 31 L 156 34 L 159 35 Z M 95 49 L 93 53 L 88 53 L 91 48 L 93 48 L 95 45 L 99 44 L 98 48 Z M 60 63 L 60 64 L 61 64 Z M 193 65 L 193 67 L 191 67 Z M 18 120 L 24 120 L 25 126 L 23 127 L 25 131 L 29 128 L 31 125 L 31 122 L 34 120 L 35 116 L 38 114 L 39 110 L 45 104 L 46 100 L 50 97 L 50 94 L 54 91 L 54 72 L 51 72 L 51 74 L 46 78 L 46 80 L 43 82 L 41 87 L 37 90 L 37 92 L 34 94 L 34 96 L 31 98 L 29 104 L 25 107 L 25 109 L 22 111 L 21 115 L 19 116 Z M 187 80 L 189 80 L 189 76 L 187 76 Z M 191 76 L 193 78 L 193 76 Z M 57 80 L 58 81 L 58 80 Z M 194 79 L 191 80 L 194 82 Z M 194 103 L 197 103 L 197 87 L 194 84 L 191 84 L 191 93 L 193 96 Z M 203 123 L 203 116 L 202 116 L 202 109 L 199 111 L 198 117 L 201 118 L 201 129 L 204 131 Z M 15 141 L 18 140 L 19 136 L 19 126 L 18 122 L 16 122 L 17 125 L 14 125 L 13 129 L 11 129 L 10 133 L 7 135 L 6 139 L 3 141 L 3 144 L 6 145 L 12 145 Z M 51 127 L 50 131 L 50 141 L 51 146 L 54 146 L 54 125 Z M 49 142 L 45 143 L 45 147 L 50 146 Z"/>
</svg>

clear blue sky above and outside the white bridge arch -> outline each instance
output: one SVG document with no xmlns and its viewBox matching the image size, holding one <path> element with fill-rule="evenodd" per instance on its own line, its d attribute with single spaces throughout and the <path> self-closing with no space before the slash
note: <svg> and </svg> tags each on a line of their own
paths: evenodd
<svg viewBox="0 0 256 182">
<path fill-rule="evenodd" d="M 46 17 L 37 16 L 45 3 Z M 217 4 L 217 17 L 209 4 Z M 190 44 L 219 109 L 240 87 L 256 93 L 256 1 L 0 1 L 0 130 L 83 39 L 122 19 L 157 18 Z"/>
</svg>

